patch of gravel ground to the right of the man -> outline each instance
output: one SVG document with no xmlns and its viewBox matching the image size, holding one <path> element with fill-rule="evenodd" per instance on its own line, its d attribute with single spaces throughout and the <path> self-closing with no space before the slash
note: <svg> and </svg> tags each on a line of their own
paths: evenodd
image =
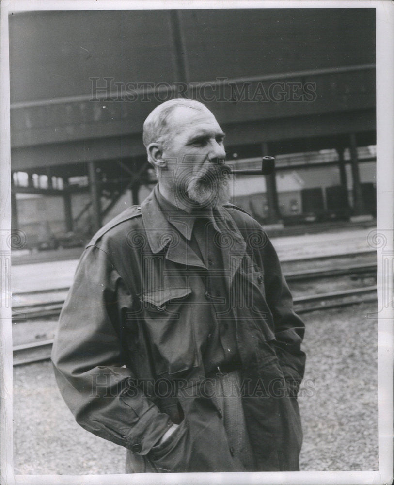
<svg viewBox="0 0 394 485">
<path fill-rule="evenodd" d="M 368 317 L 374 311 L 376 305 L 362 304 L 303 315 L 302 470 L 378 470 L 378 331 Z"/>
</svg>

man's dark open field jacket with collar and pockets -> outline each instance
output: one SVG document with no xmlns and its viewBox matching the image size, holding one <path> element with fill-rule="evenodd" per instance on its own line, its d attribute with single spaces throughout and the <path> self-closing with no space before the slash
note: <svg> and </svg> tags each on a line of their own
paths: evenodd
<svg viewBox="0 0 394 485">
<path fill-rule="evenodd" d="M 255 470 L 297 470 L 304 325 L 263 228 L 234 206 L 219 212 L 232 227 L 218 243 Z M 53 346 L 55 375 L 77 422 L 126 447 L 126 472 L 239 471 L 205 386 L 209 336 L 199 323 L 220 316 L 204 272 L 155 191 L 99 230 L 79 261 Z"/>
</svg>

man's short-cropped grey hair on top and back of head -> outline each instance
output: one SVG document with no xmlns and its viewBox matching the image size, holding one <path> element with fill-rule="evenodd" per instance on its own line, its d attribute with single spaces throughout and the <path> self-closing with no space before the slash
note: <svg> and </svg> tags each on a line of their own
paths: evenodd
<svg viewBox="0 0 394 485">
<path fill-rule="evenodd" d="M 142 140 L 145 147 L 151 143 L 165 143 L 171 126 L 169 118 L 178 106 L 186 106 L 200 111 L 208 110 L 203 103 L 194 99 L 177 98 L 159 104 L 148 115 L 143 124 Z"/>
</svg>

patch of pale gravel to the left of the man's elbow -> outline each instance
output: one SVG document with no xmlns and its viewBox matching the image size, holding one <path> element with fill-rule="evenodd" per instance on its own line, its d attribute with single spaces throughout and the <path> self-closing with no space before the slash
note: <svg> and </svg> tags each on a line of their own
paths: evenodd
<svg viewBox="0 0 394 485">
<path fill-rule="evenodd" d="M 88 433 L 58 391 L 51 362 L 14 369 L 16 474 L 123 473 L 122 447 Z"/>
</svg>

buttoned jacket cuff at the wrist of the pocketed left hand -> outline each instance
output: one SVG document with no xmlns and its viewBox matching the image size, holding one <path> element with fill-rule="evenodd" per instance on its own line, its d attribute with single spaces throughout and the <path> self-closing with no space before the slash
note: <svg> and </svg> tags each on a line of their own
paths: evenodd
<svg viewBox="0 0 394 485">
<path fill-rule="evenodd" d="M 158 413 L 158 408 L 152 406 L 139 417 L 127 437 L 126 448 L 134 454 L 146 455 L 172 425 L 168 414 Z"/>
</svg>

